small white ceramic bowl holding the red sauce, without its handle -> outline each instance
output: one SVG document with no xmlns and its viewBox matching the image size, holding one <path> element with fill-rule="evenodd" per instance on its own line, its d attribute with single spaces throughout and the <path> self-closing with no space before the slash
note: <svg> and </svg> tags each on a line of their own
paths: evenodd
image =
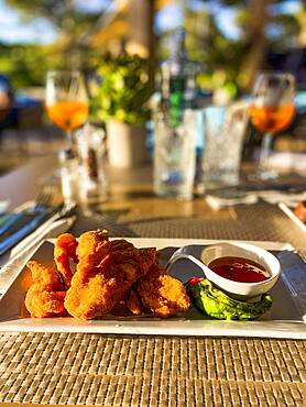
<svg viewBox="0 0 306 407">
<path fill-rule="evenodd" d="M 244 257 L 259 263 L 267 271 L 270 278 L 259 283 L 239 283 L 221 277 L 208 268 L 212 260 L 228 256 Z M 258 297 L 267 293 L 277 282 L 281 274 L 281 264 L 272 253 L 247 243 L 218 243 L 208 246 L 201 252 L 200 260 L 206 265 L 204 270 L 206 278 L 237 299 Z"/>
</svg>

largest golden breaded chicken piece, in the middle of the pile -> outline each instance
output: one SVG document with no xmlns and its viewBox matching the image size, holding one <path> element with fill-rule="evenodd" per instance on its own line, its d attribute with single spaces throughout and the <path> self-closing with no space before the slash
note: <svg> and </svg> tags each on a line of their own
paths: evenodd
<svg viewBox="0 0 306 407">
<path fill-rule="evenodd" d="M 86 232 L 78 239 L 79 263 L 65 298 L 68 312 L 79 319 L 108 314 L 124 299 L 132 284 L 155 261 L 155 249 L 135 249 L 123 239 L 109 241 L 106 230 Z"/>
</svg>

